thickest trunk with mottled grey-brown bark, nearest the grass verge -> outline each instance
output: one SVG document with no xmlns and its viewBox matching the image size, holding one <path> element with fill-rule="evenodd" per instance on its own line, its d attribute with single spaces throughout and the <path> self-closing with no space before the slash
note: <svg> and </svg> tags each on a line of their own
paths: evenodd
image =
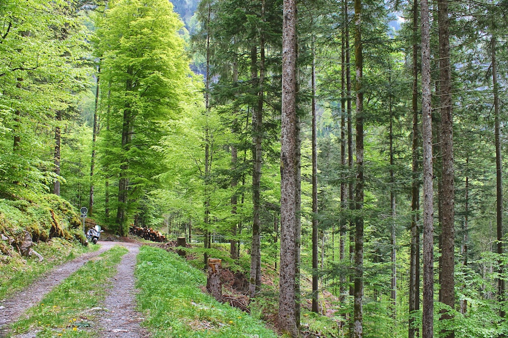
<svg viewBox="0 0 508 338">
<path fill-rule="evenodd" d="M 295 307 L 296 272 L 296 0 L 283 1 L 282 114 L 280 147 L 279 328 L 299 335 Z"/>
</svg>

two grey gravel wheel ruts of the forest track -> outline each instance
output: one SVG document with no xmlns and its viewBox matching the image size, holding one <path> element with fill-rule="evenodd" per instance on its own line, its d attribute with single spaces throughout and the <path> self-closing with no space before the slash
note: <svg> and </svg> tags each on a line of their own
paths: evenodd
<svg viewBox="0 0 508 338">
<path fill-rule="evenodd" d="M 90 309 L 100 322 L 93 323 L 89 330 L 96 330 L 101 337 L 147 337 L 149 333 L 139 323 L 143 320 L 136 311 L 134 268 L 140 243 L 137 242 L 109 242 L 99 241 L 100 249 L 88 252 L 82 256 L 46 273 L 38 281 L 24 290 L 16 292 L 8 299 L 0 301 L 0 337 L 8 334 L 8 326 L 21 319 L 26 310 L 37 305 L 45 294 L 59 285 L 72 273 L 81 268 L 87 261 L 97 259 L 97 256 L 115 245 L 122 245 L 129 250 L 117 266 L 117 274 L 113 279 L 113 287 L 109 289 L 103 304 Z M 35 337 L 36 332 L 15 335 L 16 338 Z"/>
</svg>

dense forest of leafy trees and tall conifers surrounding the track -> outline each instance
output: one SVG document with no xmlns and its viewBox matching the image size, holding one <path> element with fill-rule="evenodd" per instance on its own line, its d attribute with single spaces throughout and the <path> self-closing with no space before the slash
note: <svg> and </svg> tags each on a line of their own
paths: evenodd
<svg viewBox="0 0 508 338">
<path fill-rule="evenodd" d="M 505 13 L 1 1 L 0 251 L 86 207 L 223 259 L 285 336 L 505 336 Z"/>
</svg>

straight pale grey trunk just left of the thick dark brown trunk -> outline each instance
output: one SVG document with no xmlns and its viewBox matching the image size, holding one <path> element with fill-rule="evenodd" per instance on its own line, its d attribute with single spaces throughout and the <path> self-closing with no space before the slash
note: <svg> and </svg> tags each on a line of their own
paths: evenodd
<svg viewBox="0 0 508 338">
<path fill-rule="evenodd" d="M 418 212 L 420 209 L 419 182 L 419 129 L 418 129 L 418 0 L 413 1 L 412 8 L 412 182 L 411 182 L 411 243 L 409 254 L 409 325 L 408 338 L 415 338 L 418 328 L 415 327 L 415 315 L 420 308 L 420 231 L 418 229 Z"/>
</svg>

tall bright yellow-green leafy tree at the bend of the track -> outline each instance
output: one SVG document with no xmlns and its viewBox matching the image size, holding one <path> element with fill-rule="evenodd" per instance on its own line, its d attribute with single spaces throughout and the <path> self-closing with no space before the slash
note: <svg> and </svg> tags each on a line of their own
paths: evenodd
<svg viewBox="0 0 508 338">
<path fill-rule="evenodd" d="M 110 6 L 97 34 L 101 81 L 111 84 L 102 107 L 104 114 L 108 106 L 110 129 L 102 137 L 114 147 L 104 161 L 118 178 L 116 224 L 125 235 L 164 170 L 149 149 L 167 134 L 166 122 L 178 118 L 180 101 L 192 87 L 178 35 L 182 23 L 170 3 L 121 0 Z"/>
</svg>

